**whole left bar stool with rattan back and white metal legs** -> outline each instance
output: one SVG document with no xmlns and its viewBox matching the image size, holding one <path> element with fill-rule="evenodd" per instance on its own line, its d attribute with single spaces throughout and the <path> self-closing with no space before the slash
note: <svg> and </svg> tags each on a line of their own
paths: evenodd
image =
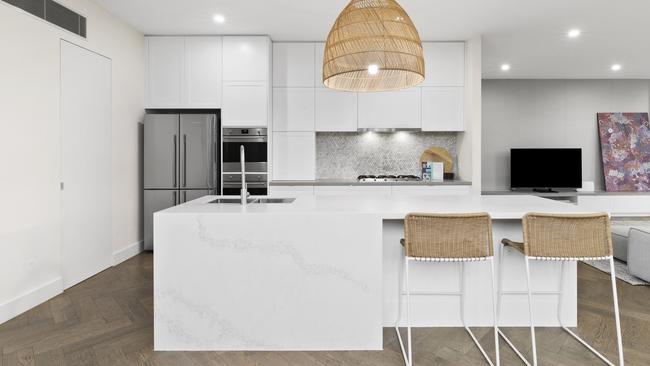
<svg viewBox="0 0 650 366">
<path fill-rule="evenodd" d="M 496 350 L 496 365 L 499 362 L 499 336 L 497 328 L 497 307 L 494 279 L 494 247 L 492 242 L 492 221 L 487 213 L 471 214 L 423 214 L 410 213 L 404 219 L 404 239 L 401 241 L 404 251 L 404 262 L 400 269 L 398 314 L 395 321 L 395 331 L 402 348 L 402 356 L 406 366 L 412 366 L 411 348 L 411 295 L 455 295 L 460 296 L 460 312 L 463 327 L 479 348 L 487 363 L 494 366 L 474 333 L 465 323 L 465 262 L 489 261 L 492 281 L 492 311 L 494 314 L 494 344 Z M 409 262 L 458 262 L 460 264 L 460 291 L 458 292 L 418 292 L 409 289 Z M 401 276 L 404 276 L 402 281 Z M 402 287 L 405 289 L 402 289 Z M 406 325 L 408 350 L 404 347 L 399 332 L 399 321 L 402 317 L 402 296 L 406 295 Z"/>
</svg>

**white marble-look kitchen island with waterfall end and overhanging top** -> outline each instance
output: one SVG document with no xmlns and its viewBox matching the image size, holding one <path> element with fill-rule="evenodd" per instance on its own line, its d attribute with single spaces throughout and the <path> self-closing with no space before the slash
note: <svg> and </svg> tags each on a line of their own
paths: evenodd
<svg viewBox="0 0 650 366">
<path fill-rule="evenodd" d="M 397 316 L 403 218 L 487 212 L 496 258 L 520 240 L 527 212 L 581 212 L 533 196 L 299 197 L 289 204 L 210 203 L 154 216 L 156 350 L 380 350 Z M 505 253 L 501 325 L 527 326 L 523 260 Z M 492 323 L 489 263 L 467 265 L 466 321 Z M 567 266 L 563 319 L 577 322 L 576 266 Z M 532 263 L 538 326 L 557 326 L 560 271 Z M 456 263 L 413 263 L 411 288 L 458 291 Z M 412 296 L 414 326 L 460 326 L 457 296 Z"/>
</svg>

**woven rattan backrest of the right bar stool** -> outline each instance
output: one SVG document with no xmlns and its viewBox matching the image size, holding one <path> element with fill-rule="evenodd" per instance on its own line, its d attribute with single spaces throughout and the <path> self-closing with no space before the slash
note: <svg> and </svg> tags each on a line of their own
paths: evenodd
<svg viewBox="0 0 650 366">
<path fill-rule="evenodd" d="M 609 215 L 528 213 L 524 251 L 546 258 L 603 258 L 612 255 Z"/>
</svg>

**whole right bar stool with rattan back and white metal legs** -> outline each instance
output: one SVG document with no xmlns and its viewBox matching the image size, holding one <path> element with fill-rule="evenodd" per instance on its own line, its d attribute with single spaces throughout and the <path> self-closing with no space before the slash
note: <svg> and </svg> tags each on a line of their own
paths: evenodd
<svg viewBox="0 0 650 366">
<path fill-rule="evenodd" d="M 530 336 L 533 349 L 533 365 L 537 366 L 537 346 L 535 341 L 535 322 L 533 320 L 533 294 L 530 281 L 530 260 L 539 261 L 560 261 L 560 289 L 557 294 L 558 308 L 557 317 L 562 329 L 569 333 L 583 346 L 593 352 L 606 364 L 614 364 L 595 350 L 585 340 L 566 327 L 562 321 L 562 294 L 564 292 L 564 264 L 569 261 L 582 260 L 603 260 L 609 261 L 611 269 L 612 295 L 614 299 L 614 317 L 616 321 L 616 337 L 618 341 L 619 365 L 624 365 L 623 343 L 621 338 L 621 322 L 618 311 L 618 295 L 616 293 L 616 275 L 614 272 L 614 259 L 612 250 L 612 236 L 610 231 L 609 215 L 606 213 L 562 215 L 562 214 L 541 214 L 528 213 L 523 218 L 524 242 L 518 243 L 512 240 L 503 239 L 501 243 L 512 247 L 524 256 L 526 261 L 526 284 L 528 294 L 528 311 L 530 312 Z M 504 248 L 500 255 L 500 268 L 503 268 Z M 517 292 L 503 292 L 503 276 L 499 271 L 498 310 L 501 314 L 501 297 L 507 294 L 518 294 Z M 526 365 L 530 363 L 517 350 L 508 337 L 499 330 L 499 334 L 513 351 L 521 358 Z"/>
</svg>

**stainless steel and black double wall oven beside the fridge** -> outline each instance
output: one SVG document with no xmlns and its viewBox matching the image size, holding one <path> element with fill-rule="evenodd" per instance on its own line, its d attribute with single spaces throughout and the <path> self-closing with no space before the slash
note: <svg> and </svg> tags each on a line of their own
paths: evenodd
<svg viewBox="0 0 650 366">
<path fill-rule="evenodd" d="M 268 133 L 266 128 L 224 128 L 222 134 L 222 193 L 241 194 L 241 155 L 246 155 L 246 183 L 251 195 L 268 194 Z"/>
</svg>

